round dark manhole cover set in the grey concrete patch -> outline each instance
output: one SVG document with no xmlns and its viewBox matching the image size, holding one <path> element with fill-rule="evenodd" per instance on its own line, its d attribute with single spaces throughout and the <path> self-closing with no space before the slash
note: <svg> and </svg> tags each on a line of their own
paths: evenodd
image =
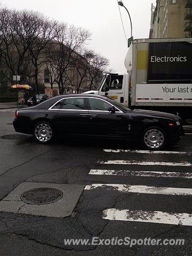
<svg viewBox="0 0 192 256">
<path fill-rule="evenodd" d="M 63 193 L 55 188 L 35 188 L 21 195 L 21 200 L 27 204 L 51 204 L 59 201 Z"/>
</svg>

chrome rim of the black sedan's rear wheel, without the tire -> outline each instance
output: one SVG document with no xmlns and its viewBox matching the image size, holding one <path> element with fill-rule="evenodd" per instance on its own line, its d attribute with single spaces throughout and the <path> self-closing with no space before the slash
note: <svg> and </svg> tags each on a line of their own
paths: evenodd
<svg viewBox="0 0 192 256">
<path fill-rule="evenodd" d="M 35 137 L 38 141 L 47 142 L 51 139 L 52 134 L 53 132 L 49 124 L 41 123 L 35 127 Z"/>
</svg>

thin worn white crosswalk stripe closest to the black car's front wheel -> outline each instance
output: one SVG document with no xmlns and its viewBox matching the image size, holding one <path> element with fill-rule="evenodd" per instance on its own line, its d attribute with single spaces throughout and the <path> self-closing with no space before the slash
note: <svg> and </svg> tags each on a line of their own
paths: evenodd
<svg viewBox="0 0 192 256">
<path fill-rule="evenodd" d="M 107 153 L 139 153 L 139 154 L 178 154 L 191 155 L 192 152 L 179 151 L 150 151 L 150 150 L 130 150 L 130 149 L 103 149 Z"/>
</svg>

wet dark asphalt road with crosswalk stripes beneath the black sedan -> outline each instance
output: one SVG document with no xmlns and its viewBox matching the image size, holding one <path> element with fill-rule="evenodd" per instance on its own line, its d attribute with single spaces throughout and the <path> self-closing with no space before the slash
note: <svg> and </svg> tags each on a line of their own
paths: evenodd
<svg viewBox="0 0 192 256">
<path fill-rule="evenodd" d="M 1 256 L 191 255 L 192 134 L 157 154 L 116 140 L 38 145 L 14 131 L 13 118 L 14 110 L 0 110 Z M 19 193 L 38 183 L 63 188 L 65 202 L 18 206 Z M 100 244 L 91 244 L 92 237 Z M 130 246 L 103 240 L 125 237 L 161 241 Z M 67 245 L 65 239 L 90 240 Z M 163 245 L 164 239 L 185 244 Z"/>
</svg>

